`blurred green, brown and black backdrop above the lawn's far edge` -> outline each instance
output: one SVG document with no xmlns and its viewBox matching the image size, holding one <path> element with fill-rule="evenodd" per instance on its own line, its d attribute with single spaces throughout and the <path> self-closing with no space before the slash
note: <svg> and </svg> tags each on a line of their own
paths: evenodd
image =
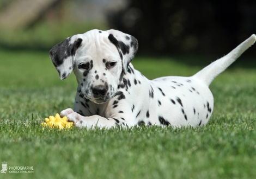
<svg viewBox="0 0 256 179">
<path fill-rule="evenodd" d="M 66 37 L 113 28 L 138 39 L 138 54 L 216 58 L 255 33 L 255 19 L 253 0 L 0 0 L 0 48 L 48 51 Z"/>
</svg>

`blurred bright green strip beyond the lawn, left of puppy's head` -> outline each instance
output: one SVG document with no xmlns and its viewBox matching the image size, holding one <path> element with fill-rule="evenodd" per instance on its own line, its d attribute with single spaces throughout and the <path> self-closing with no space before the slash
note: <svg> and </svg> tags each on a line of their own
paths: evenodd
<svg viewBox="0 0 256 179">
<path fill-rule="evenodd" d="M 107 25 L 99 22 L 52 22 L 44 21 L 31 28 L 15 31 L 0 29 L 0 48 L 50 50 L 55 44 L 75 34 L 88 30 L 107 30 Z"/>
</svg>

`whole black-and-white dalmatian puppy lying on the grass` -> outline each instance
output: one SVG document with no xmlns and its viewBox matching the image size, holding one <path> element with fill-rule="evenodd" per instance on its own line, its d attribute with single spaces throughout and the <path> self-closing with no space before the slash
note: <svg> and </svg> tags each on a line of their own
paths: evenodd
<svg viewBox="0 0 256 179">
<path fill-rule="evenodd" d="M 90 30 L 60 42 L 50 51 L 60 79 L 74 71 L 78 83 L 74 110 L 60 113 L 77 127 L 203 126 L 214 109 L 209 89 L 256 40 L 252 35 L 228 55 L 190 77 L 148 80 L 133 68 L 135 37 L 118 30 Z"/>
</svg>

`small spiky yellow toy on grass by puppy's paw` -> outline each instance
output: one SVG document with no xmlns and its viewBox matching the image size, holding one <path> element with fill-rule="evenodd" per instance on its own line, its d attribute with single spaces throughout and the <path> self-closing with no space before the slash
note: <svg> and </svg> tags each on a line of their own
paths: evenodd
<svg viewBox="0 0 256 179">
<path fill-rule="evenodd" d="M 59 130 L 62 130 L 63 128 L 65 129 L 71 129 L 72 125 L 74 124 L 73 122 L 67 122 L 67 118 L 64 116 L 61 118 L 59 114 L 57 113 L 54 116 L 50 116 L 49 118 L 45 118 L 45 123 L 41 123 L 43 127 L 49 127 L 49 128 L 59 128 Z"/>
</svg>

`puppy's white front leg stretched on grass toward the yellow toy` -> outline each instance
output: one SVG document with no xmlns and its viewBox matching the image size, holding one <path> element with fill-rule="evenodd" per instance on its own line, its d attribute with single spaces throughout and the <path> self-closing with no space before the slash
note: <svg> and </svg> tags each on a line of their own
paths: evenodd
<svg viewBox="0 0 256 179">
<path fill-rule="evenodd" d="M 121 116 L 105 118 L 99 115 L 93 115 L 93 116 L 85 117 L 74 112 L 71 108 L 68 108 L 60 112 L 60 117 L 64 117 L 64 116 L 68 118 L 69 122 L 74 122 L 76 127 L 80 127 L 80 128 L 93 129 L 94 127 L 99 127 L 99 128 L 106 127 L 106 129 L 110 129 L 111 127 L 115 127 L 119 125 L 123 127 L 126 126 L 125 119 L 121 118 Z"/>
</svg>

